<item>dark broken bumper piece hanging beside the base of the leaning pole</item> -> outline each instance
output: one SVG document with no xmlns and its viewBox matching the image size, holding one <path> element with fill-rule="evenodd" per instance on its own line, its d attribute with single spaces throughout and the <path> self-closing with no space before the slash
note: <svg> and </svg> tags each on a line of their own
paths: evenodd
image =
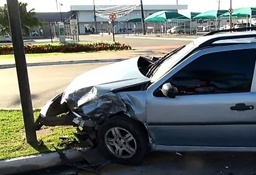
<svg viewBox="0 0 256 175">
<path fill-rule="evenodd" d="M 42 117 L 42 115 L 39 115 L 38 120 L 35 122 L 36 130 L 40 130 L 42 126 L 77 126 L 73 122 L 74 118 L 76 116 L 74 114 L 63 114 L 60 115 L 60 117 L 57 116 L 48 116 L 48 117 Z"/>
</svg>

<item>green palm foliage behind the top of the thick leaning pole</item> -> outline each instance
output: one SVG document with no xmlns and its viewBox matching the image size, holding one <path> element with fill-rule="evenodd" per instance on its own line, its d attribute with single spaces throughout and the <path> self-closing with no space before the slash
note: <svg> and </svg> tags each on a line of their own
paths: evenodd
<svg viewBox="0 0 256 175">
<path fill-rule="evenodd" d="M 29 33 L 33 27 L 38 27 L 42 25 L 42 22 L 35 17 L 35 8 L 30 11 L 27 11 L 27 3 L 18 3 L 20 10 L 20 19 L 21 19 L 21 27 L 24 32 Z M 5 35 L 5 33 L 10 32 L 9 20 L 8 20 L 8 11 L 7 5 L 4 7 L 0 7 L 0 34 Z"/>
</svg>

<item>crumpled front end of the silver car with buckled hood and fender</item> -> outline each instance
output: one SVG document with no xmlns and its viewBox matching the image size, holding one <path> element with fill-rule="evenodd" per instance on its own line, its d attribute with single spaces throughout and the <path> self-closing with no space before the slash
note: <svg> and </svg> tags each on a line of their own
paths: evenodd
<svg viewBox="0 0 256 175">
<path fill-rule="evenodd" d="M 43 105 L 36 130 L 42 126 L 82 127 L 88 135 L 94 133 L 90 141 L 96 146 L 100 126 L 112 117 L 122 115 L 145 123 L 145 85 L 150 80 L 145 74 L 152 62 L 136 57 L 80 75 Z"/>
</svg>

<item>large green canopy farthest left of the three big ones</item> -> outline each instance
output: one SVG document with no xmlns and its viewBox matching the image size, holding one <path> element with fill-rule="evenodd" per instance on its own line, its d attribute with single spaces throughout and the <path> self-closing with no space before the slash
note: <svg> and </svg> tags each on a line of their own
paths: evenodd
<svg viewBox="0 0 256 175">
<path fill-rule="evenodd" d="M 189 18 L 175 11 L 158 11 L 145 18 L 145 22 L 164 23 L 165 31 L 166 22 L 170 20 L 189 20 Z"/>
</svg>

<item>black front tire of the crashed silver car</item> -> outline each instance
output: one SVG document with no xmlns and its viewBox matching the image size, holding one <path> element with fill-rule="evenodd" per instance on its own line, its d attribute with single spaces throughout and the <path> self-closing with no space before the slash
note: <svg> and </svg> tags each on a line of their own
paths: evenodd
<svg viewBox="0 0 256 175">
<path fill-rule="evenodd" d="M 130 140 L 127 143 L 126 142 L 127 140 L 124 139 L 123 141 L 119 140 L 119 143 L 117 143 L 118 140 L 114 139 L 115 137 L 112 132 L 114 130 L 115 135 L 118 135 L 116 134 L 118 133 L 116 132 L 116 129 L 120 131 L 119 133 L 121 133 L 123 138 L 124 138 L 124 135 L 128 135 L 126 134 L 126 132 L 129 132 L 132 136 L 128 137 L 128 139 L 133 137 L 134 140 Z M 105 138 L 108 138 L 109 140 L 111 140 L 110 145 L 107 145 Z M 125 142 L 125 143 L 122 144 L 120 142 Z M 113 144 L 115 144 L 115 146 L 113 146 Z M 118 144 L 120 144 L 121 146 Z M 132 148 L 135 148 L 134 149 L 135 151 L 133 150 L 133 154 L 129 154 L 129 152 L 126 152 L 124 150 L 123 152 L 121 152 L 121 154 L 123 154 L 123 156 L 129 155 L 129 157 L 118 157 L 117 155 L 114 154 L 114 151 L 117 148 L 116 146 L 118 146 L 118 148 L 123 150 L 128 148 L 125 146 L 129 146 L 129 150 L 132 150 L 130 149 L 132 147 Z M 143 158 L 150 151 L 148 133 L 146 132 L 146 129 L 143 126 L 143 124 L 139 123 L 139 121 L 133 120 L 132 118 L 129 118 L 123 115 L 117 115 L 105 121 L 105 123 L 103 123 L 99 128 L 98 148 L 101 154 L 104 155 L 104 157 L 107 160 L 113 161 L 114 163 L 124 164 L 124 165 L 138 165 L 138 164 L 141 164 Z M 111 152 L 111 150 L 113 152 Z"/>
</svg>

